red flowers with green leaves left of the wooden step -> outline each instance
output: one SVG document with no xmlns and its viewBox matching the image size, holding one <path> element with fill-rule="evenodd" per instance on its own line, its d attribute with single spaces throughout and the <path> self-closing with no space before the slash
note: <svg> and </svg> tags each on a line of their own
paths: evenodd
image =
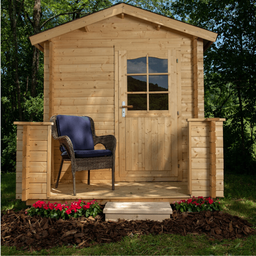
<svg viewBox="0 0 256 256">
<path fill-rule="evenodd" d="M 49 218 L 77 218 L 79 216 L 93 216 L 93 218 L 98 215 L 102 210 L 99 207 L 99 204 L 96 200 L 85 202 L 74 201 L 70 205 L 67 204 L 51 204 L 50 202 L 46 203 L 45 201 L 37 201 L 32 205 L 30 209 L 27 209 L 26 213 L 30 216 L 38 215 L 41 217 Z"/>
</svg>

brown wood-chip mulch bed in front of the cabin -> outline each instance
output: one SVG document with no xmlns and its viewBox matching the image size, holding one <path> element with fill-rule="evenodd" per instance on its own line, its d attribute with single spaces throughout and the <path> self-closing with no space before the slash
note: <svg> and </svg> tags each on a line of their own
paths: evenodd
<svg viewBox="0 0 256 256">
<path fill-rule="evenodd" d="M 104 221 L 103 215 L 68 220 L 31 217 L 20 212 L 1 214 L 1 245 L 28 250 L 68 245 L 89 247 L 120 241 L 124 236 L 148 234 L 205 234 L 212 239 L 236 239 L 256 234 L 252 224 L 223 212 L 175 212 L 159 221 Z"/>
</svg>

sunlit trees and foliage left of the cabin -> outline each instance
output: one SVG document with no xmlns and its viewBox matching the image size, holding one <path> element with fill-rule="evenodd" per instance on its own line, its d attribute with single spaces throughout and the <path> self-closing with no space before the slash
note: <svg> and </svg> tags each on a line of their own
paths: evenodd
<svg viewBox="0 0 256 256">
<path fill-rule="evenodd" d="M 166 0 L 126 3 L 167 14 Z M 116 4 L 111 0 L 1 1 L 1 171 L 15 171 L 14 121 L 43 121 L 44 57 L 29 36 Z"/>
</svg>

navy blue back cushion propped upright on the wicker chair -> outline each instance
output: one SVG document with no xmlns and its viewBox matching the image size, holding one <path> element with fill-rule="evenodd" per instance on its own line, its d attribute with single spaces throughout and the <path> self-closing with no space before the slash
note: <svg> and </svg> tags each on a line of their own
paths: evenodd
<svg viewBox="0 0 256 256">
<path fill-rule="evenodd" d="M 87 116 L 57 115 L 56 125 L 58 136 L 68 136 L 74 150 L 94 149 L 90 119 Z M 61 151 L 65 149 L 61 147 Z"/>
</svg>

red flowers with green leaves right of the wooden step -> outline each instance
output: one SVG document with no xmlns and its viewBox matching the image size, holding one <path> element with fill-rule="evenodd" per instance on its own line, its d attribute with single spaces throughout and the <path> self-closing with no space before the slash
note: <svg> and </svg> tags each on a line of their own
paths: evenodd
<svg viewBox="0 0 256 256">
<path fill-rule="evenodd" d="M 180 212 L 201 212 L 201 211 L 220 211 L 221 203 L 219 199 L 213 199 L 211 197 L 204 199 L 203 196 L 195 198 L 183 199 L 174 202 L 175 209 Z"/>
</svg>

